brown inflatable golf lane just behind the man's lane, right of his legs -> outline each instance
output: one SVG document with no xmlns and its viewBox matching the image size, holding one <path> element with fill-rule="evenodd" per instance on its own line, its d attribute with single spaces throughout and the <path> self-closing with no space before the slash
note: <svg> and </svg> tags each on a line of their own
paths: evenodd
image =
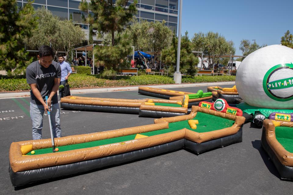
<svg viewBox="0 0 293 195">
<path fill-rule="evenodd" d="M 117 99 L 67 96 L 61 98 L 60 107 L 74 110 L 135 113 L 139 116 L 171 117 L 188 113 L 188 97 L 178 100 Z M 191 109 L 190 109 L 191 111 Z"/>
</svg>

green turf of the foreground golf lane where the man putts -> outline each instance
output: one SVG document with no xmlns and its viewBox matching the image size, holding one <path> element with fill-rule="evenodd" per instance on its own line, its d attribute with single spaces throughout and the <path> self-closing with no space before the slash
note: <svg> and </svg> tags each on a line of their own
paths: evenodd
<svg viewBox="0 0 293 195">
<path fill-rule="evenodd" d="M 146 136 L 154 136 L 154 135 L 159 135 L 162 133 L 168 133 L 168 132 L 180 130 L 183 128 L 190 129 L 190 130 L 196 131 L 198 133 L 203 133 L 203 132 L 209 132 L 209 131 L 214 131 L 214 130 L 230 127 L 234 123 L 233 120 L 223 119 L 221 117 L 205 114 L 202 112 L 197 112 L 197 115 L 195 116 L 194 119 L 198 120 L 198 122 L 199 122 L 197 124 L 197 129 L 191 129 L 188 124 L 188 120 L 186 120 L 186 121 L 169 123 L 168 129 L 161 129 L 161 130 L 151 131 L 151 132 L 147 132 L 147 133 L 140 133 L 140 134 L 146 135 Z M 96 147 L 96 146 L 114 144 L 114 143 L 119 143 L 119 142 L 125 142 L 125 141 L 129 141 L 129 140 L 134 140 L 135 136 L 136 136 L 136 134 L 123 136 L 123 137 L 117 137 L 117 138 L 110 138 L 110 139 L 106 139 L 106 140 L 86 142 L 86 143 L 81 143 L 81 144 L 60 146 L 60 147 L 58 147 L 59 148 L 58 152 L 74 150 L 74 149 L 81 149 L 81 148 L 88 148 L 88 147 Z M 39 150 L 34 150 L 34 151 L 35 151 L 34 155 L 46 154 L 46 153 L 52 153 L 52 148 L 44 148 L 44 149 L 39 149 Z M 29 152 L 29 153 L 27 153 L 27 155 L 31 155 L 31 153 Z"/>
</svg>

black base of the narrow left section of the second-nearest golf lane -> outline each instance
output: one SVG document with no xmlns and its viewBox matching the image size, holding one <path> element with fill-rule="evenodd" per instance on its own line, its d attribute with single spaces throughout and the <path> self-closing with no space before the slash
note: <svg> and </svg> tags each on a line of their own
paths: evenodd
<svg viewBox="0 0 293 195">
<path fill-rule="evenodd" d="M 82 105 L 82 104 L 69 104 L 60 103 L 61 108 L 74 109 L 74 110 L 92 110 L 104 112 L 125 112 L 125 113 L 139 113 L 139 108 L 133 107 L 118 107 L 118 106 L 97 106 L 97 105 Z"/>
</svg>

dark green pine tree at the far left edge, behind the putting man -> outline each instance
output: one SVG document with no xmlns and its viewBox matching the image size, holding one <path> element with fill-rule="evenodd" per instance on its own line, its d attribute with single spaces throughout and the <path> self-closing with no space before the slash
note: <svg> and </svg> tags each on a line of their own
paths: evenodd
<svg viewBox="0 0 293 195">
<path fill-rule="evenodd" d="M 9 76 L 25 73 L 33 60 L 28 59 L 24 38 L 37 26 L 34 13 L 30 1 L 18 9 L 16 0 L 0 0 L 0 69 Z"/>
</svg>

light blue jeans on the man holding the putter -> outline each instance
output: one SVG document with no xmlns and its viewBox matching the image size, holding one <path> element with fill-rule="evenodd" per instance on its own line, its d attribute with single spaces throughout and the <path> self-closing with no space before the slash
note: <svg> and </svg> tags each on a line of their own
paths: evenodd
<svg viewBox="0 0 293 195">
<path fill-rule="evenodd" d="M 52 111 L 50 112 L 52 132 L 54 137 L 61 137 L 61 128 L 60 128 L 60 108 L 59 104 L 52 104 Z M 37 105 L 31 103 L 30 114 L 31 120 L 33 122 L 33 140 L 42 139 L 42 128 L 43 128 L 43 115 L 45 109 L 43 105 Z M 47 125 L 49 128 L 49 124 Z"/>
</svg>

